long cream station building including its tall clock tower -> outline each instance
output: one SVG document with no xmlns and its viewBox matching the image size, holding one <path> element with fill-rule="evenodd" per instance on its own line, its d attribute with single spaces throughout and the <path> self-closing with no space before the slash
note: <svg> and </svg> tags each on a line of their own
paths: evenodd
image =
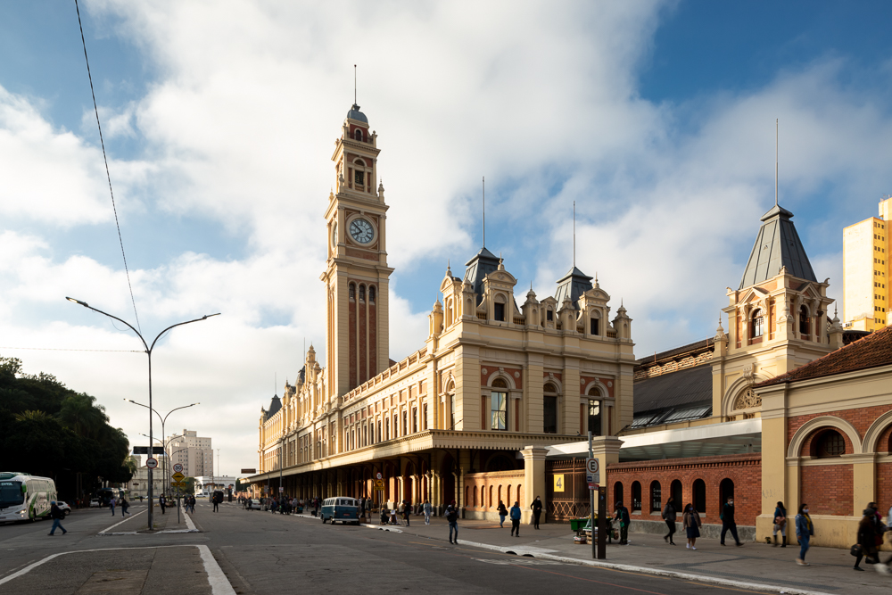
<svg viewBox="0 0 892 595">
<path fill-rule="evenodd" d="M 320 229 L 329 237 L 321 280 L 331 365 L 322 368 L 311 346 L 280 407 L 274 399 L 261 411 L 260 474 L 251 481 L 270 492 L 281 482 L 300 497 L 456 500 L 465 508 L 466 475 L 521 470 L 517 500 L 528 514 L 534 496 L 544 496 L 544 446 L 578 440 L 590 426 L 616 434 L 632 422 L 632 318 L 621 306 L 610 320 L 610 296 L 575 268 L 556 297 L 518 295 L 516 277 L 483 248 L 464 278 L 447 269 L 425 342 L 392 362 L 388 207 L 384 188 L 373 190 L 378 151 L 353 106 Z M 377 474 L 384 492 L 376 494 Z M 495 512 L 472 508 L 476 516 Z"/>
</svg>

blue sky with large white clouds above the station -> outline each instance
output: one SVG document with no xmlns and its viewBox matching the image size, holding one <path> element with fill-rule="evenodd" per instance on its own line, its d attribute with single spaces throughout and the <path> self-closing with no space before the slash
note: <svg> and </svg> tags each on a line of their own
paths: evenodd
<svg viewBox="0 0 892 595">
<path fill-rule="evenodd" d="M 260 407 L 324 356 L 323 213 L 356 94 L 381 149 L 391 357 L 486 243 L 540 299 L 572 265 L 635 352 L 714 335 L 759 218 L 795 213 L 842 297 L 842 228 L 892 192 L 892 4 L 0 3 L 0 356 L 257 467 Z M 120 240 L 117 223 L 120 225 Z M 125 272 L 120 242 L 127 256 Z M 129 283 L 132 285 L 131 300 Z M 134 308 L 134 304 L 136 308 Z M 842 318 L 842 304 L 840 318 Z M 135 313 L 136 310 L 136 313 Z M 117 326 L 116 326 L 117 325 Z M 723 321 L 727 328 L 727 320 Z M 160 434 L 155 425 L 154 434 Z"/>
</svg>

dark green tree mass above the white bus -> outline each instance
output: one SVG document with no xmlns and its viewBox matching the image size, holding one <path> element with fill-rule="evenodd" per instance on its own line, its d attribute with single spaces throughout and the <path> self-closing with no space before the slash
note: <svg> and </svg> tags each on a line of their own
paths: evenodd
<svg viewBox="0 0 892 595">
<path fill-rule="evenodd" d="M 87 492 L 103 481 L 128 482 L 129 442 L 108 422 L 95 397 L 0 357 L 0 469 L 53 477 L 62 499 L 80 495 L 78 474 Z"/>
</svg>

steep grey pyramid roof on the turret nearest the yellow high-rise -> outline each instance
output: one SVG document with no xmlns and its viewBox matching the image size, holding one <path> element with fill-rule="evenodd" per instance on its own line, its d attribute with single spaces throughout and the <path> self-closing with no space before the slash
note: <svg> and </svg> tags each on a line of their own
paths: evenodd
<svg viewBox="0 0 892 595">
<path fill-rule="evenodd" d="M 786 267 L 794 277 L 817 281 L 792 218 L 793 213 L 778 205 L 762 216 L 762 227 L 759 227 L 739 289 L 764 283 L 777 275 L 781 267 Z"/>
</svg>

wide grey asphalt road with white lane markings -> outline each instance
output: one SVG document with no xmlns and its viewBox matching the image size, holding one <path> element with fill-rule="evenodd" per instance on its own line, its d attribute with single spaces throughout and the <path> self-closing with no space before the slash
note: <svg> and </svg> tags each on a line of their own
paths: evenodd
<svg viewBox="0 0 892 595">
<path fill-rule="evenodd" d="M 0 593 L 227 592 L 219 583 L 216 591 L 211 589 L 211 566 L 217 567 L 218 574 L 222 570 L 239 595 L 742 591 L 517 557 L 460 543 L 452 546 L 445 534 L 442 540 L 424 539 L 245 511 L 234 504 L 220 509 L 213 513 L 211 507 L 199 504 L 193 520 L 202 533 L 96 536 L 120 520 L 112 519 L 107 510 L 73 512 L 64 522 L 69 530 L 65 536 L 47 536 L 49 522 L 0 525 Z M 211 566 L 202 562 L 201 550 L 194 546 L 208 548 Z M 3 583 L 29 565 L 62 552 L 73 553 Z"/>
</svg>

